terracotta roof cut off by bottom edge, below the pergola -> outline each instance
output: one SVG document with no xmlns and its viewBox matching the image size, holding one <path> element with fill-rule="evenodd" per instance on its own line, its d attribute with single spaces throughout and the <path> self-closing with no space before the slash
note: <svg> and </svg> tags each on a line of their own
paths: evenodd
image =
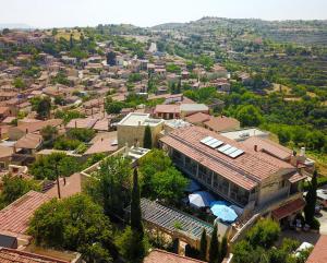
<svg viewBox="0 0 327 263">
<path fill-rule="evenodd" d="M 144 263 L 204 263 L 182 255 L 173 254 L 164 250 L 154 249 L 145 259 Z"/>
</svg>

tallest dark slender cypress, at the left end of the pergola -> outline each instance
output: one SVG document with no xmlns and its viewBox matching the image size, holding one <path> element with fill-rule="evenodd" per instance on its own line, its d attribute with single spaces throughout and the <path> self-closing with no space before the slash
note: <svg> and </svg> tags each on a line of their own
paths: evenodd
<svg viewBox="0 0 327 263">
<path fill-rule="evenodd" d="M 134 169 L 134 174 L 133 174 L 133 190 L 132 190 L 132 201 L 131 201 L 131 228 L 132 230 L 137 231 L 140 234 L 141 239 L 143 239 L 144 230 L 142 224 L 138 175 L 136 168 Z"/>
</svg>

